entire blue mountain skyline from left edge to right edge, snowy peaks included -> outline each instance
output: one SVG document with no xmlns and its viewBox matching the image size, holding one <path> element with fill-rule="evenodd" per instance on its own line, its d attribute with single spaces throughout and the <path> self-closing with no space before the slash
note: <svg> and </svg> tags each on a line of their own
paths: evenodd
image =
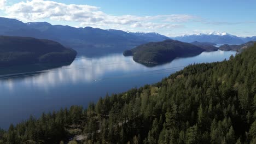
<svg viewBox="0 0 256 144">
<path fill-rule="evenodd" d="M 179 40 L 185 43 L 194 41 L 214 44 L 243 44 L 256 41 L 254 37 L 237 37 L 228 33 L 212 32 L 179 37 L 166 37 L 158 33 L 124 32 L 116 29 L 92 27 L 75 28 L 71 26 L 51 25 L 48 22 L 24 23 L 15 19 L 0 17 L 0 35 L 33 37 L 54 40 L 66 47 L 72 47 L 78 53 L 113 53 L 123 52 L 141 44 L 158 42 L 166 39 Z"/>
</svg>

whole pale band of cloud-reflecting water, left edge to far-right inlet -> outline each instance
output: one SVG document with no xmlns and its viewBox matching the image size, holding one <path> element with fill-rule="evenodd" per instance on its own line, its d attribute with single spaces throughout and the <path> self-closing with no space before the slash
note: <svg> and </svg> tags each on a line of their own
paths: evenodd
<svg viewBox="0 0 256 144">
<path fill-rule="evenodd" d="M 232 54 L 234 52 L 229 53 Z M 28 74 L 24 77 L 19 77 L 19 79 L 12 77 L 7 80 L 0 80 L 0 84 L 8 88 L 9 91 L 15 89 L 16 82 L 23 82 L 27 88 L 37 87 L 47 90 L 55 86 L 70 85 L 78 82 L 97 82 L 114 77 L 171 73 L 171 71 L 182 69 L 183 66 L 192 63 L 222 61 L 226 54 L 227 52 L 224 51 L 202 52 L 198 56 L 177 58 L 170 63 L 157 67 L 145 67 L 134 62 L 132 57 L 124 57 L 121 54 L 96 58 L 78 57 L 71 65 L 45 70 L 43 73 Z"/>
</svg>

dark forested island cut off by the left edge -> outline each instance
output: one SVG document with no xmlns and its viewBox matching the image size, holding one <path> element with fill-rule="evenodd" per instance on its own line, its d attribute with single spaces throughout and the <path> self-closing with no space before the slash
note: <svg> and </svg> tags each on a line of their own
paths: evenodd
<svg viewBox="0 0 256 144">
<path fill-rule="evenodd" d="M 0 67 L 73 62 L 77 52 L 52 40 L 0 36 Z"/>
</svg>

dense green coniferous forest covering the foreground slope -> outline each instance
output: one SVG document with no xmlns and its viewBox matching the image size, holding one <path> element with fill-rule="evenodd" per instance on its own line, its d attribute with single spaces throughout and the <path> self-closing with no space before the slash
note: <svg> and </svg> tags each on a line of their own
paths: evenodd
<svg viewBox="0 0 256 144">
<path fill-rule="evenodd" d="M 85 101 L 86 103 L 86 101 Z M 0 143 L 256 143 L 256 45 L 154 85 L 30 117 Z"/>
</svg>

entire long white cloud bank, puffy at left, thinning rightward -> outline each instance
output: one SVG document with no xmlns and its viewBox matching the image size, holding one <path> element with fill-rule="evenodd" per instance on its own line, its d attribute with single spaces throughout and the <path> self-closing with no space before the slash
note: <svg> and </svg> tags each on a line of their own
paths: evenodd
<svg viewBox="0 0 256 144">
<path fill-rule="evenodd" d="M 100 8 L 91 5 L 64 4 L 43 0 L 13 4 L 5 9 L 5 13 L 8 17 L 22 21 L 51 19 L 80 22 L 80 26 L 102 26 L 108 28 L 121 26 L 145 29 L 181 28 L 183 25 L 173 22 L 188 22 L 197 19 L 192 15 L 115 16 L 103 13 Z"/>
</svg>

